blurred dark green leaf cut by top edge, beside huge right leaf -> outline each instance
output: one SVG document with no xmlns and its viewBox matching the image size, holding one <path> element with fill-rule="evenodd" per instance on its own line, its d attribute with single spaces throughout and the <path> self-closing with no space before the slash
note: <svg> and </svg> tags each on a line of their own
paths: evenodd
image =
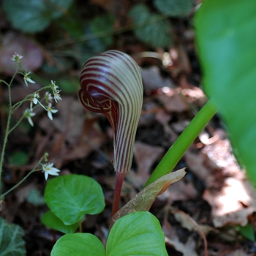
<svg viewBox="0 0 256 256">
<path fill-rule="evenodd" d="M 187 15 L 193 7 L 192 0 L 154 0 L 154 6 L 172 17 Z"/>
</svg>

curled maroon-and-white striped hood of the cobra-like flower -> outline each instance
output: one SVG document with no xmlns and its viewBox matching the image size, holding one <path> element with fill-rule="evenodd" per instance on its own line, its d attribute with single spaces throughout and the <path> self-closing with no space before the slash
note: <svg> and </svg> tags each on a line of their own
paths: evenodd
<svg viewBox="0 0 256 256">
<path fill-rule="evenodd" d="M 138 65 L 126 53 L 109 50 L 86 61 L 80 86 L 83 107 L 103 113 L 110 121 L 114 131 L 113 166 L 127 173 L 143 102 Z"/>
</svg>

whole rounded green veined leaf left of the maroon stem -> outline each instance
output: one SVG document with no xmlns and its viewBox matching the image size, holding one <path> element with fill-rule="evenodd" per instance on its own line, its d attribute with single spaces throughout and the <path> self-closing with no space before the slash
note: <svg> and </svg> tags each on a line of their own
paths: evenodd
<svg viewBox="0 0 256 256">
<path fill-rule="evenodd" d="M 48 181 L 45 203 L 65 225 L 77 223 L 85 214 L 99 214 L 105 207 L 102 188 L 97 181 L 76 174 Z"/>
</svg>

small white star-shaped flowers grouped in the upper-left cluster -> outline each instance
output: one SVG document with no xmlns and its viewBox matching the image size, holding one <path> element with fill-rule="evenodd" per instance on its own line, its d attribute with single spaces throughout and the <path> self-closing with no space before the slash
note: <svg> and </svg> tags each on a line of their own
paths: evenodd
<svg viewBox="0 0 256 256">
<path fill-rule="evenodd" d="M 22 58 L 23 56 L 21 56 L 18 53 L 15 53 L 12 56 L 11 60 L 20 64 L 20 59 Z M 23 80 L 26 86 L 29 86 L 29 83 L 35 83 L 34 80 L 32 80 L 29 76 L 31 72 L 26 71 L 26 72 L 18 72 L 18 73 L 23 75 Z M 29 124 L 31 124 L 32 127 L 34 126 L 34 124 L 31 117 L 35 116 L 36 114 L 33 112 L 33 104 L 37 105 L 37 103 L 39 103 L 39 105 L 41 105 L 42 108 L 44 108 L 47 111 L 48 117 L 50 118 L 50 120 L 53 120 L 53 113 L 58 112 L 58 110 L 53 108 L 53 99 L 55 100 L 55 102 L 58 102 L 59 100 L 61 100 L 61 96 L 59 94 L 61 90 L 59 90 L 59 86 L 56 86 L 56 82 L 53 80 L 50 81 L 50 85 L 48 87 L 52 90 L 52 93 L 47 91 L 45 93 L 45 97 L 43 97 L 43 99 L 46 102 L 46 106 L 42 105 L 42 103 L 39 101 L 40 96 L 39 96 L 39 93 L 36 92 L 34 93 L 33 97 L 31 97 L 30 108 L 24 111 L 24 117 L 28 118 Z"/>
</svg>

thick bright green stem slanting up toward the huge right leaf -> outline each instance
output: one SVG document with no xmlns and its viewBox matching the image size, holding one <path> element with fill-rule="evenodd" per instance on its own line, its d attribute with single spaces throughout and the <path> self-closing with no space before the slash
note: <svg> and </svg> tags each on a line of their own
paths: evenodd
<svg viewBox="0 0 256 256">
<path fill-rule="evenodd" d="M 144 187 L 173 171 L 173 168 L 176 167 L 178 161 L 187 151 L 189 146 L 191 146 L 195 138 L 197 138 L 208 121 L 210 121 L 216 113 L 217 108 L 211 102 L 211 100 L 206 102 L 206 105 L 204 105 L 203 108 L 197 113 L 195 118 L 192 119 L 192 121 L 189 123 L 186 129 L 184 129 L 175 143 L 173 143 L 173 146 L 171 146 L 167 151 L 161 162 L 159 162 L 157 165 L 154 172 L 148 178 L 148 181 Z"/>
</svg>

